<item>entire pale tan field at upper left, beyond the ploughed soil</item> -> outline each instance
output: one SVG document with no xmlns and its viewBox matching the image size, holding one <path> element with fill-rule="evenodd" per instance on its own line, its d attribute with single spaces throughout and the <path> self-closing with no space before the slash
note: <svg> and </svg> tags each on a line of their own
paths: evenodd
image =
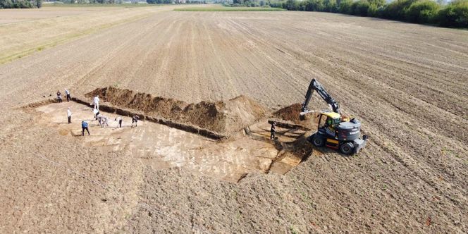
<svg viewBox="0 0 468 234">
<path fill-rule="evenodd" d="M 0 64 L 173 7 L 0 9 Z M 21 22 L 23 21 L 23 22 Z"/>
</svg>

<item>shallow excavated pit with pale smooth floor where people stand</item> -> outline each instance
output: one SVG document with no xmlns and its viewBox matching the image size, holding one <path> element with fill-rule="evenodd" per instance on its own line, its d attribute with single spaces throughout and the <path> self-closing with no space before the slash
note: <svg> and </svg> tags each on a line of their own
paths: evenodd
<svg viewBox="0 0 468 234">
<path fill-rule="evenodd" d="M 278 128 L 279 139 L 274 142 L 269 140 L 270 125 L 266 121 L 252 125 L 250 135 L 219 141 L 152 121 L 139 121 L 136 128 L 130 128 L 130 117 L 104 111 L 101 114 L 110 123 L 109 127 L 100 128 L 88 105 L 70 101 L 30 108 L 35 110 L 38 124 L 56 128 L 58 134 L 70 137 L 68 140 L 109 152 L 124 151 L 138 159 L 135 163 L 141 162 L 154 170 L 178 167 L 237 182 L 245 173 L 286 173 L 307 156 L 285 150 L 289 148 L 285 142 L 302 136 L 302 130 Z M 73 113 L 71 124 L 67 123 L 68 107 Z M 114 121 L 117 116 L 123 118 L 123 128 L 118 128 Z M 81 136 L 81 121 L 90 124 L 90 136 L 87 133 Z"/>
</svg>

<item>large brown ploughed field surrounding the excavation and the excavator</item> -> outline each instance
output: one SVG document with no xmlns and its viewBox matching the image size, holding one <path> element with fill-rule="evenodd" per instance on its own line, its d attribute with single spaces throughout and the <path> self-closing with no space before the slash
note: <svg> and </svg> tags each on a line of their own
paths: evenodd
<svg viewBox="0 0 468 234">
<path fill-rule="evenodd" d="M 8 11 L 0 20 L 8 21 L 0 25 L 1 233 L 468 232 L 466 30 L 331 13 L 172 8 L 15 22 Z M 106 20 L 114 21 L 99 25 Z M 38 29 L 25 33 L 31 25 Z M 273 113 L 302 102 L 312 78 L 362 121 L 370 140 L 355 156 L 314 149 L 284 175 L 264 166 L 216 171 L 242 140 L 196 149 L 197 164 L 213 152 L 217 163 L 190 168 L 168 161 L 178 152 L 190 159 L 192 148 L 180 141 L 203 147 L 204 137 L 187 140 L 189 133 L 147 122 L 75 137 L 80 125 L 66 125 L 68 104 L 25 108 L 64 88 L 91 102 L 85 94 L 110 86 L 187 104 L 243 95 Z M 82 107 L 72 105 L 80 116 Z M 309 109 L 326 105 L 314 95 Z M 111 143 L 102 137 L 108 132 Z M 274 154 L 264 143 L 255 144 Z M 171 160 L 159 163 L 138 147 Z M 245 172 L 238 183 L 223 179 Z"/>
</svg>

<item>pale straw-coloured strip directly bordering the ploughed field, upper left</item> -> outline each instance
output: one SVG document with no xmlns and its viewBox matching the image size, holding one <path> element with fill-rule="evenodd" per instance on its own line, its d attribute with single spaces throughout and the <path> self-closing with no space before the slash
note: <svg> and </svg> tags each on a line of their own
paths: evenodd
<svg viewBox="0 0 468 234">
<path fill-rule="evenodd" d="M 106 27 L 144 18 L 152 11 L 154 12 L 154 9 L 151 8 L 144 11 L 118 9 L 78 16 L 32 20 L 19 25 L 0 25 L 0 35 L 3 36 L 0 37 L 0 41 L 4 37 L 15 39 L 11 43 L 1 43 L 0 61 L 20 58 Z"/>
</svg>

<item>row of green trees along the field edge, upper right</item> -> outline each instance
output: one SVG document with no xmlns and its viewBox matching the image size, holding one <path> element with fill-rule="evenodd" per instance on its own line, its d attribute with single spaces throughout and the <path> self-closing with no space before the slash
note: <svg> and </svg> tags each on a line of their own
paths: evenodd
<svg viewBox="0 0 468 234">
<path fill-rule="evenodd" d="M 443 27 L 468 27 L 468 0 L 234 0 L 233 6 L 271 6 L 401 20 Z"/>
</svg>

